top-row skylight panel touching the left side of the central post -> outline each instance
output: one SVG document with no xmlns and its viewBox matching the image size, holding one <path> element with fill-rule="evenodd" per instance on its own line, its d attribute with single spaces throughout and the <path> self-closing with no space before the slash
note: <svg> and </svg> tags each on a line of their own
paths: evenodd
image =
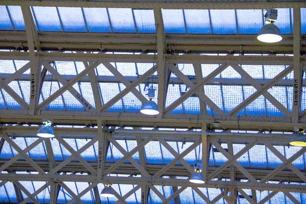
<svg viewBox="0 0 306 204">
<path fill-rule="evenodd" d="M 156 33 L 154 11 L 133 9 L 138 33 Z"/>
</svg>

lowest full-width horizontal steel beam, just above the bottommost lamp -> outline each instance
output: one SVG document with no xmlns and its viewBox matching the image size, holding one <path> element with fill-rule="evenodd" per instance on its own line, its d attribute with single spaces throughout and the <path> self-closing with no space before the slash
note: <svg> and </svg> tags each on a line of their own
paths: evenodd
<svg viewBox="0 0 306 204">
<path fill-rule="evenodd" d="M 142 177 L 118 177 L 107 176 L 104 180 L 96 180 L 94 175 L 41 175 L 41 174 L 14 174 L 14 173 L 0 173 L 0 180 L 8 181 L 61 181 L 61 182 L 89 182 L 89 183 L 106 183 L 112 184 L 134 184 L 134 185 L 147 185 L 148 180 Z M 162 179 L 155 178 L 149 181 L 152 185 L 158 186 L 189 186 L 189 187 L 201 187 L 201 188 L 242 188 L 242 189 L 254 189 L 254 190 L 275 190 L 282 192 L 300 192 L 305 193 L 306 190 L 303 185 L 295 184 L 253 184 L 250 182 L 227 182 L 227 181 L 210 181 L 206 184 L 192 184 L 189 180 L 181 179 Z"/>
</svg>

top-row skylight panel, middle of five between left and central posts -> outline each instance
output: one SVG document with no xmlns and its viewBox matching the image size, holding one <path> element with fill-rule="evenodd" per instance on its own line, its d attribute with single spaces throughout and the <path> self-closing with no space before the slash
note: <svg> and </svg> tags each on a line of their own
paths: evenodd
<svg viewBox="0 0 306 204">
<path fill-rule="evenodd" d="M 111 33 L 106 8 L 83 8 L 89 32 Z"/>
</svg>

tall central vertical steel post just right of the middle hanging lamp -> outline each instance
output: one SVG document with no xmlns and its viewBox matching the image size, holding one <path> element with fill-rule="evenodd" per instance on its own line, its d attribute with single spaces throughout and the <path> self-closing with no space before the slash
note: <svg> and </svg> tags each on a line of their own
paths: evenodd
<svg viewBox="0 0 306 204">
<path fill-rule="evenodd" d="M 157 34 L 157 61 L 158 61 L 158 108 L 160 114 L 159 118 L 163 117 L 165 108 L 167 91 L 167 69 L 164 54 L 167 50 L 166 34 L 164 29 L 164 22 L 161 9 L 154 9 L 155 27 Z"/>
</svg>

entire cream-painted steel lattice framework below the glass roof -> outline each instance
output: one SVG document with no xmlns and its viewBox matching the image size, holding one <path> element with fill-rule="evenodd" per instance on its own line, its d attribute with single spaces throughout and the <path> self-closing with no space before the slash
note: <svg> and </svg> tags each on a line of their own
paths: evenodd
<svg viewBox="0 0 306 204">
<path fill-rule="evenodd" d="M 40 203 L 36 196 L 47 187 L 50 188 L 50 203 L 56 203 L 59 188 L 62 187 L 73 198 L 68 203 L 84 203 L 81 199 L 87 192 L 93 190 L 96 203 L 100 203 L 98 184 L 133 184 L 135 187 L 125 195 L 116 194 L 115 203 L 127 203 L 126 198 L 141 189 L 141 203 L 147 203 L 148 192 L 153 191 L 163 203 L 180 203 L 178 195 L 187 188 L 192 188 L 202 199 L 202 202 L 216 203 L 225 199 L 227 203 L 237 203 L 238 194 L 249 203 L 266 203 L 278 192 L 284 192 L 293 203 L 300 203 L 291 193 L 306 193 L 306 171 L 298 169 L 293 162 L 304 155 L 306 147 L 300 148 L 293 156 L 286 158 L 274 145 L 287 146 L 290 135 L 263 134 L 264 131 L 292 132 L 295 126 L 303 127 L 306 110 L 300 110 L 302 72 L 305 70 L 306 58 L 301 56 L 305 51 L 303 36 L 300 34 L 300 8 L 306 7 L 304 2 L 291 1 L 1 1 L 0 5 L 21 6 L 26 32 L 0 32 L 0 47 L 14 49 L 13 52 L 0 52 L 0 60 L 29 60 L 29 63 L 16 70 L 13 74 L 1 74 L 0 88 L 5 90 L 22 110 L 0 110 L 0 152 L 4 142 L 7 142 L 17 151 L 17 155 L 9 160 L 0 161 L 0 187 L 7 182 L 13 182 L 15 190 L 21 190 L 28 197 L 20 203 L 32 200 Z M 62 7 L 105 7 L 105 8 L 145 8 L 154 9 L 155 34 L 95 34 L 95 33 L 50 33 L 37 32 L 31 13 L 31 6 L 62 6 Z M 256 41 L 256 36 L 236 35 L 172 35 L 165 34 L 161 9 L 269 9 L 293 8 L 294 34 L 284 37 L 284 41 L 277 45 L 265 45 Z M 241 44 L 237 45 L 237 41 Z M 22 47 L 28 52 L 15 50 Z M 146 55 L 155 52 L 157 54 Z M 184 54 L 173 54 L 171 50 Z M 74 53 L 66 53 L 70 50 Z M 98 53 L 94 53 L 97 52 Z M 92 53 L 91 53 L 92 52 Z M 141 55 L 107 54 L 106 52 L 142 52 Z M 226 56 L 203 56 L 200 53 L 226 53 Z M 270 54 L 268 56 L 233 55 L 238 54 Z M 277 54 L 293 54 L 292 56 L 276 56 Z M 54 61 L 82 62 L 85 69 L 76 75 L 62 75 L 52 65 Z M 111 63 L 154 63 L 145 73 L 137 77 L 124 77 Z M 186 76 L 176 64 L 192 64 L 195 78 Z M 97 76 L 94 69 L 104 65 L 114 77 Z M 219 64 L 219 66 L 203 78 L 201 64 Z M 284 65 L 286 68 L 272 79 L 253 79 L 242 65 Z M 226 81 L 215 78 L 227 67 L 231 66 L 244 80 L 233 79 Z M 43 67 L 43 69 L 41 69 Z M 25 73 L 30 69 L 30 73 Z M 50 72 L 53 77 L 46 75 Z M 155 72 L 157 75 L 153 75 Z M 293 80 L 284 79 L 293 71 Z M 171 77 L 171 73 L 177 78 Z M 9 84 L 13 81 L 28 80 L 31 82 L 30 103 L 28 104 Z M 43 82 L 59 82 L 62 86 L 52 95 L 44 98 L 39 104 L 39 97 Z M 125 95 L 133 93 L 141 103 L 146 97 L 137 89 L 137 86 L 151 81 L 158 85 L 158 101 L 160 114 L 156 117 L 144 116 L 140 113 L 107 112 L 117 101 Z M 93 91 L 95 107 L 93 107 L 73 85 L 78 82 L 89 82 Z M 102 103 L 98 83 L 122 83 L 125 89 L 107 103 Z M 189 91 L 182 94 L 167 106 L 166 96 L 169 83 L 186 85 Z M 221 110 L 205 93 L 203 86 L 211 84 L 248 85 L 256 91 L 245 98 L 242 103 L 228 113 Z M 293 87 L 292 112 L 282 105 L 268 92 L 273 86 Z M 84 106 L 85 111 L 56 111 L 46 110 L 50 103 L 69 91 Z M 171 111 L 181 105 L 193 94 L 199 98 L 200 114 L 172 114 Z M 263 95 L 284 116 L 248 116 L 237 114 L 246 108 L 252 101 Z M 207 106 L 216 115 L 207 114 Z M 39 138 L 31 145 L 22 149 L 14 141 L 16 137 L 36 137 L 38 130 L 27 124 L 40 124 L 41 119 L 52 118 L 56 125 L 84 125 L 91 124 L 97 128 L 72 129 L 70 127 L 56 127 L 57 140 L 71 154 L 63 161 L 56 161 L 50 139 Z M 222 124 L 223 132 L 214 132 L 212 122 Z M 19 124 L 19 125 L 12 125 Z M 119 129 L 114 129 L 119 126 Z M 133 130 L 124 130 L 124 127 L 133 127 Z M 145 131 L 141 127 L 155 127 Z M 186 128 L 187 131 L 159 131 L 159 127 Z M 193 129 L 201 132 L 192 131 Z M 259 133 L 233 133 L 231 130 L 259 131 Z M 71 147 L 64 138 L 81 138 L 86 135 L 88 142 L 78 150 Z M 84 136 L 85 137 L 85 136 Z M 137 141 L 133 149 L 126 151 L 119 143 L 120 140 Z M 168 164 L 148 164 L 144 155 L 144 146 L 150 141 L 157 141 L 174 157 Z M 168 142 L 188 141 L 192 144 L 183 152 L 174 150 Z M 47 160 L 32 159 L 27 153 L 44 143 L 47 151 Z M 225 149 L 221 144 L 227 144 Z M 89 162 L 81 154 L 89 147 L 98 145 L 98 159 Z M 116 162 L 106 162 L 109 145 L 112 144 L 123 155 Z M 184 157 L 201 144 L 201 161 L 205 184 L 191 184 L 187 179 L 177 179 L 175 176 L 190 176 L 193 172 Z M 233 144 L 245 144 L 238 152 Z M 266 149 L 281 160 L 282 164 L 275 169 L 251 168 L 242 166 L 238 160 L 255 145 L 264 145 Z M 210 166 L 210 152 L 212 146 L 226 158 L 220 166 Z M 139 162 L 132 156 L 138 152 Z M 236 152 L 236 153 L 235 153 Z M 22 160 L 20 158 L 23 158 Z M 72 162 L 73 160 L 77 160 Z M 129 160 L 129 163 L 125 161 Z M 180 164 L 177 164 L 177 163 Z M 287 168 L 288 167 L 288 168 Z M 37 174 L 20 173 L 16 171 L 37 172 Z M 66 174 L 62 172 L 72 172 Z M 78 175 L 75 173 L 86 172 Z M 130 174 L 129 177 L 108 176 L 109 174 Z M 137 175 L 137 176 L 135 176 Z M 169 176 L 169 177 L 165 177 Z M 20 182 L 42 181 L 45 185 L 30 193 Z M 246 181 L 246 182 L 245 182 Z M 278 181 L 278 183 L 273 183 Z M 82 192 L 76 195 L 65 184 L 66 182 L 90 183 Z M 289 184 L 293 182 L 294 184 Z M 156 186 L 170 186 L 173 194 L 165 197 Z M 179 188 L 180 187 L 180 188 Z M 200 188 L 218 188 L 220 194 L 214 199 L 208 198 Z M 251 190 L 252 196 L 245 189 Z M 258 201 L 256 191 L 271 191 L 266 197 Z M 16 191 L 17 194 L 17 191 Z"/>
</svg>

